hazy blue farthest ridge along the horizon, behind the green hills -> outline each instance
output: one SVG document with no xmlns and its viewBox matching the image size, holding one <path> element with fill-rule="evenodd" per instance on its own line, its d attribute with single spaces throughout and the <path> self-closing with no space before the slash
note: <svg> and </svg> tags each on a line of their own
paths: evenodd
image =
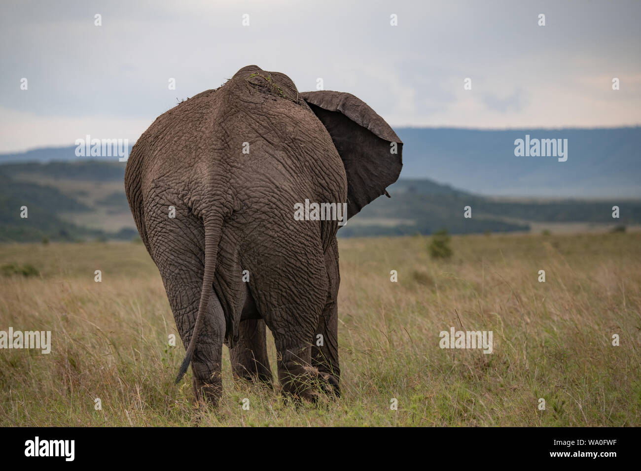
<svg viewBox="0 0 641 471">
<path fill-rule="evenodd" d="M 404 179 L 430 179 L 470 193 L 499 196 L 639 198 L 641 128 L 396 128 L 403 140 Z M 568 158 L 516 157 L 514 141 L 567 139 Z M 129 145 L 129 150 L 133 146 Z M 76 147 L 0 154 L 1 163 L 83 161 Z M 103 162 L 117 157 L 101 157 Z"/>
</svg>

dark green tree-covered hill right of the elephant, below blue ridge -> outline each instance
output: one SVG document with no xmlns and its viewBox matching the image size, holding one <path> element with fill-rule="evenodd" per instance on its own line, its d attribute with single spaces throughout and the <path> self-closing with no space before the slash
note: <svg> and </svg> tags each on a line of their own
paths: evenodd
<svg viewBox="0 0 641 471">
<path fill-rule="evenodd" d="M 641 201 L 621 199 L 619 219 L 612 201 L 577 199 L 507 201 L 462 192 L 425 179 L 399 179 L 340 229 L 340 236 L 528 231 L 532 223 L 641 224 Z M 472 217 L 463 217 L 469 206 Z"/>
</svg>

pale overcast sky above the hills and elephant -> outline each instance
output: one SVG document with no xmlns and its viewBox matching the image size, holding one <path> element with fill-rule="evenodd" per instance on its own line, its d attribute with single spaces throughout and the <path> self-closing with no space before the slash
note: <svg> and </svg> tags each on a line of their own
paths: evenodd
<svg viewBox="0 0 641 471">
<path fill-rule="evenodd" d="M 640 1 L 3 0 L 0 8 L 0 152 L 73 145 L 87 134 L 133 142 L 177 99 L 249 64 L 284 72 L 301 91 L 322 78 L 392 126 L 641 124 Z"/>
</svg>

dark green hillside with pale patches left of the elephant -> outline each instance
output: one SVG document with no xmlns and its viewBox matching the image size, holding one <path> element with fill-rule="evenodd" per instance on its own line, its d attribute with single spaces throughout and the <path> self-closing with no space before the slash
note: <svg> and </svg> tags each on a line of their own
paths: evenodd
<svg viewBox="0 0 641 471">
<path fill-rule="evenodd" d="M 0 242 L 130 240 L 138 231 L 123 179 L 124 163 L 0 165 Z M 22 206 L 28 210 L 26 219 Z"/>
</svg>

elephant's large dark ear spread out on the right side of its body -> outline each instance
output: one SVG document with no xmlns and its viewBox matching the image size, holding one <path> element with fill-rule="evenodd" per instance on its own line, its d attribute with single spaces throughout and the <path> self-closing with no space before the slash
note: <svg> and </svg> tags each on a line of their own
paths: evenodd
<svg viewBox="0 0 641 471">
<path fill-rule="evenodd" d="M 399 178 L 403 142 L 383 118 L 354 95 L 322 90 L 301 97 L 329 131 L 347 173 L 347 218 Z M 389 196 L 389 195 L 388 195 Z"/>
</svg>

